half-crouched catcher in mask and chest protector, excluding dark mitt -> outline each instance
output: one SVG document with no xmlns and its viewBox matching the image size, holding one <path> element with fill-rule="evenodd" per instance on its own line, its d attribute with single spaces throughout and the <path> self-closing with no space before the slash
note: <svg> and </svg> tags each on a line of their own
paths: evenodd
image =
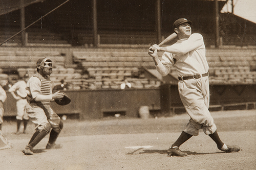
<svg viewBox="0 0 256 170">
<path fill-rule="evenodd" d="M 49 58 L 40 58 L 37 61 L 37 74 L 32 76 L 27 83 L 28 105 L 26 111 L 36 126 L 36 132 L 31 137 L 25 150 L 22 151 L 25 155 L 33 155 L 32 149 L 48 133 L 50 133 L 50 137 L 46 149 L 60 148 L 60 145 L 55 144 L 55 141 L 63 128 L 63 123 L 60 117 L 51 109 L 50 102 L 55 99 L 62 99 L 64 93 L 57 91 L 52 94 L 51 73 L 52 61 Z"/>
</svg>

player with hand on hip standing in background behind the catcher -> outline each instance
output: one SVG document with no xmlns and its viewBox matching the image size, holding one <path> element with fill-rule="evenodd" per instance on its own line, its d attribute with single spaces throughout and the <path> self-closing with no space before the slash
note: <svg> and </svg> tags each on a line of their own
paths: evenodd
<svg viewBox="0 0 256 170">
<path fill-rule="evenodd" d="M 29 116 L 26 112 L 26 105 L 27 103 L 27 93 L 25 92 L 27 82 L 29 80 L 29 75 L 26 73 L 23 76 L 23 79 L 15 83 L 10 89 L 9 92 L 11 92 L 14 99 L 16 99 L 16 108 L 17 108 L 17 131 L 16 134 L 19 134 L 19 128 L 20 125 L 23 122 L 24 129 L 23 133 L 26 133 L 27 125 L 29 122 Z"/>
</svg>

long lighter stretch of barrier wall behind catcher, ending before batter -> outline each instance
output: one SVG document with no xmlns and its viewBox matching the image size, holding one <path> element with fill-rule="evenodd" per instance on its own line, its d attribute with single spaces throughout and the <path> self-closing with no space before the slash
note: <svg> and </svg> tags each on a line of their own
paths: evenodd
<svg viewBox="0 0 256 170">
<path fill-rule="evenodd" d="M 126 90 L 80 90 L 66 91 L 72 102 L 66 106 L 51 103 L 57 114 L 79 113 L 81 119 L 97 119 L 115 113 L 127 117 L 138 117 L 141 106 L 148 106 L 150 111 L 160 110 L 159 89 L 126 89 Z M 10 92 L 4 103 L 4 116 L 16 115 L 16 101 Z"/>
</svg>

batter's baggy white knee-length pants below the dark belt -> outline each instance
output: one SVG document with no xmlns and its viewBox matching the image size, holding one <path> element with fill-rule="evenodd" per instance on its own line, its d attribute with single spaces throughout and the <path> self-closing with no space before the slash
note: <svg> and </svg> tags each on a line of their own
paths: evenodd
<svg viewBox="0 0 256 170">
<path fill-rule="evenodd" d="M 190 116 L 189 123 L 184 132 L 197 136 L 199 130 L 203 129 L 206 135 L 216 131 L 216 125 L 209 108 L 209 79 L 189 79 L 178 82 L 180 99 Z"/>
</svg>

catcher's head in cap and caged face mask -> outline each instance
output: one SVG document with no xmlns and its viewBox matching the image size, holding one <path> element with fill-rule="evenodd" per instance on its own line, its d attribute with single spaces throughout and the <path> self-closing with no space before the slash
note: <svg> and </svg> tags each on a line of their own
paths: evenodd
<svg viewBox="0 0 256 170">
<path fill-rule="evenodd" d="M 52 74 L 52 60 L 49 58 L 40 58 L 36 62 L 37 72 L 42 69 L 44 75 L 50 76 Z"/>
</svg>

